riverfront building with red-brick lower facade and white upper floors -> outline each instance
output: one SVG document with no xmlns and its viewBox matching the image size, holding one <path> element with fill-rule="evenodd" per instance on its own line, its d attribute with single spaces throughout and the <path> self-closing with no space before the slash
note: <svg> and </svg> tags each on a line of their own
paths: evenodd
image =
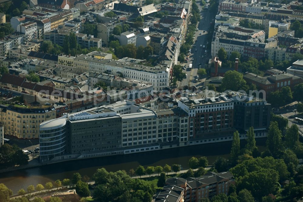
<svg viewBox="0 0 303 202">
<path fill-rule="evenodd" d="M 233 133 L 233 99 L 225 95 L 191 99 L 194 94 L 178 100 L 178 107 L 188 113 L 189 139 L 231 136 Z M 197 99 L 198 98 L 198 99 Z M 187 102 L 188 101 L 188 102 Z"/>
</svg>

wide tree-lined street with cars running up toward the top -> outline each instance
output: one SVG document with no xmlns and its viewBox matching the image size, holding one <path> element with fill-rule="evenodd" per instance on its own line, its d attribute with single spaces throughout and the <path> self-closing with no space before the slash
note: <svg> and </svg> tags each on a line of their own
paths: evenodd
<svg viewBox="0 0 303 202">
<path fill-rule="evenodd" d="M 204 68 L 204 64 L 206 61 L 209 60 L 210 50 L 207 50 L 207 55 L 205 56 L 205 50 L 206 48 L 200 47 L 200 45 L 207 44 L 207 34 L 208 29 L 210 28 L 210 12 L 202 10 L 202 6 L 198 3 L 197 4 L 200 10 L 201 20 L 197 25 L 198 31 L 196 31 L 195 39 L 194 39 L 194 45 L 191 48 L 191 55 L 189 56 L 188 63 L 182 63 L 181 65 L 186 65 L 186 69 L 183 70 L 185 74 L 187 74 L 187 78 L 183 79 L 183 81 L 179 82 L 178 87 L 182 86 L 201 86 L 201 83 L 205 81 L 205 78 L 200 78 L 198 82 L 195 82 L 197 71 L 199 69 L 199 63 L 201 63 L 201 68 Z M 205 31 L 205 32 L 203 32 Z M 201 33 L 201 35 L 200 35 Z M 197 39 L 197 41 L 195 41 Z M 197 49 L 197 51 L 195 51 Z M 203 58 L 202 58 L 203 56 Z M 192 60 L 194 58 L 194 61 Z M 189 71 L 188 67 L 189 64 L 192 64 L 192 69 Z"/>
</svg>

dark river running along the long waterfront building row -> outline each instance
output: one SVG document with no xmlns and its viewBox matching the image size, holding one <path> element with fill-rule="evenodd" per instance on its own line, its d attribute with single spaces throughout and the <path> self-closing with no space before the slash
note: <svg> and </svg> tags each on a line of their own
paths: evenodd
<svg viewBox="0 0 303 202">
<path fill-rule="evenodd" d="M 260 151 L 265 149 L 266 138 L 256 139 Z M 244 146 L 245 140 L 241 140 Z M 196 146 L 185 146 L 168 150 L 158 150 L 136 154 L 117 155 L 110 157 L 97 157 L 91 159 L 73 160 L 62 163 L 45 165 L 42 167 L 17 170 L 8 173 L 1 173 L 0 183 L 4 183 L 14 194 L 21 188 L 25 189 L 28 185 L 36 186 L 38 183 L 54 182 L 57 179 L 71 178 L 72 174 L 79 172 L 81 175 L 92 177 L 93 173 L 101 167 L 108 171 L 126 170 L 127 172 L 138 165 L 142 166 L 164 166 L 180 164 L 187 168 L 187 162 L 192 156 L 206 156 L 211 165 L 218 156 L 229 157 L 231 141 L 220 143 L 209 143 Z"/>
</svg>

